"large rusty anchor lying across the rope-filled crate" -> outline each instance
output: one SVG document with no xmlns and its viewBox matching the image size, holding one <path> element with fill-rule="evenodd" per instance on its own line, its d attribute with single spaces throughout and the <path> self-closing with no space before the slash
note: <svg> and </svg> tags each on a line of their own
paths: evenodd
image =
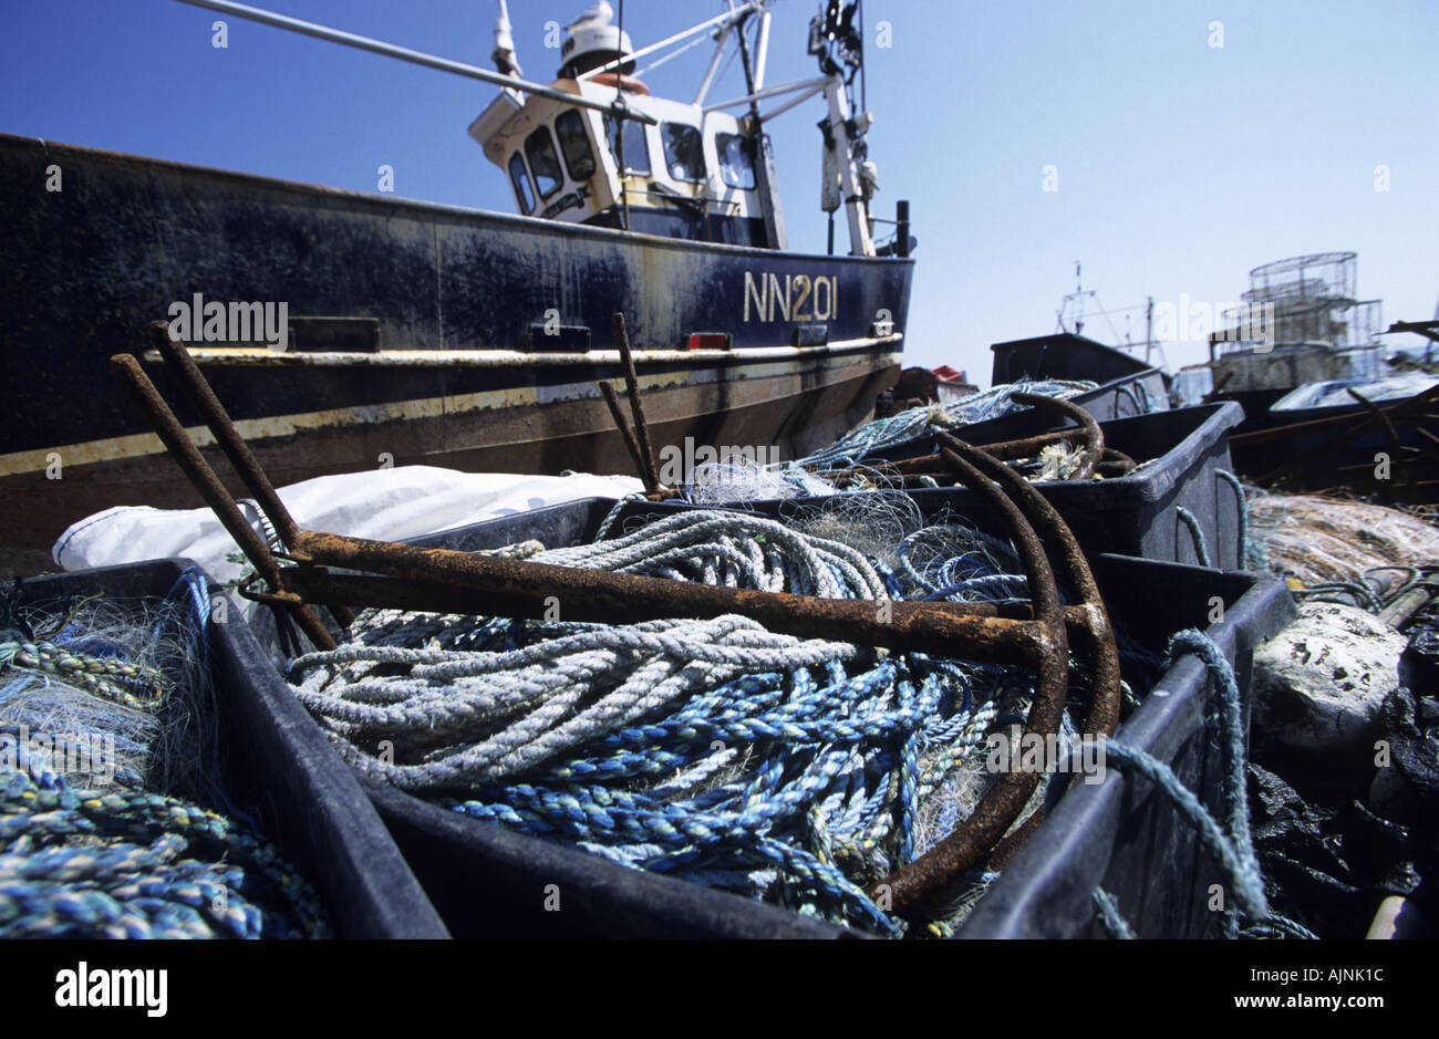
<svg viewBox="0 0 1439 1039">
<path fill-rule="evenodd" d="M 151 328 L 181 387 L 200 407 L 226 458 L 278 532 L 282 553 L 272 553 L 271 545 L 245 521 L 138 361 L 128 354 L 117 354 L 111 358 L 114 374 L 140 403 L 171 458 L 255 566 L 256 574 L 242 587 L 242 594 L 289 610 L 321 649 L 334 648 L 334 640 L 309 609 L 311 604 L 328 604 L 332 610 L 381 606 L 538 617 L 545 600 L 558 596 L 566 603 L 567 616 L 576 620 L 626 623 L 734 613 L 773 632 L 799 638 L 1027 666 L 1036 675 L 1036 686 L 1026 730 L 1052 735 L 1059 730 L 1065 705 L 1069 642 L 1073 636 L 1088 652 L 1094 675 L 1085 732 L 1112 732 L 1118 720 L 1120 671 L 1114 633 L 1078 543 L 1059 514 L 1020 475 L 955 437 L 940 436 L 941 456 L 947 468 L 1007 528 L 1029 580 L 1027 607 L 817 599 L 308 531 L 291 517 L 184 345 L 173 338 L 165 322 L 154 322 Z M 617 322 L 617 331 L 622 330 Z M 637 407 L 636 420 L 643 425 Z M 636 448 L 645 458 L 645 442 L 637 442 Z M 1049 553 L 1053 554 L 1053 564 Z M 296 566 L 281 567 L 279 558 Z M 1078 604 L 1065 607 L 1061 603 L 1055 564 L 1078 596 Z M 328 566 L 364 573 L 331 573 L 325 568 Z M 258 581 L 269 590 L 256 590 L 253 584 Z M 981 862 L 1002 842 L 1036 783 L 1035 774 L 1022 770 L 1006 773 L 948 839 L 882 881 L 889 888 L 895 911 L 905 912 L 922 904 L 963 871 Z M 1032 829 L 1032 825 L 1026 823 L 1026 827 Z M 1022 827 L 1020 838 L 1026 827 Z M 1007 850 L 1014 845 L 1016 838 L 1012 838 Z"/>
</svg>

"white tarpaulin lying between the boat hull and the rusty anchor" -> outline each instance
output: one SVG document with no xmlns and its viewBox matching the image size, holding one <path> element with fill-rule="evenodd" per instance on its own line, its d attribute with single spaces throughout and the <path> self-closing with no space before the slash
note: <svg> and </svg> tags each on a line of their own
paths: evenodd
<svg viewBox="0 0 1439 1039">
<path fill-rule="evenodd" d="M 633 476 L 515 476 L 406 465 L 307 479 L 279 488 L 279 498 L 307 530 L 400 541 L 577 498 L 623 498 L 643 489 Z M 240 508 L 268 538 L 255 504 Z M 122 505 L 73 524 L 50 554 L 65 570 L 178 555 L 226 583 L 250 568 L 236 561 L 239 551 L 207 508 Z"/>
</svg>

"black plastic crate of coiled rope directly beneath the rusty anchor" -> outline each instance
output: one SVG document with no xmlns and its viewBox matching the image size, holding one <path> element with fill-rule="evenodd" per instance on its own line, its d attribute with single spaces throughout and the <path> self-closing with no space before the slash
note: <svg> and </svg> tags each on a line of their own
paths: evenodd
<svg viewBox="0 0 1439 1039">
<path fill-rule="evenodd" d="M 478 551 L 534 537 L 547 548 L 561 547 L 593 538 L 597 525 L 610 514 L 613 505 L 610 499 L 553 505 L 417 538 L 414 543 Z M 645 509 L 669 514 L 673 507 L 627 502 L 625 515 L 629 521 L 626 522 L 622 515 L 614 524 L 614 532 L 619 532 L 622 525 L 633 528 L 635 521 L 646 514 Z M 971 514 L 971 518 L 986 525 L 979 515 Z M 583 534 L 577 534 L 578 531 Z M 566 537 L 547 540 L 545 532 Z M 1245 685 L 1253 646 L 1286 623 L 1294 612 L 1289 593 L 1282 584 L 1255 574 L 1226 574 L 1120 555 L 1097 555 L 1092 564 L 1117 626 L 1156 650 L 1163 650 L 1168 636 L 1176 630 L 1191 626 L 1209 627 L 1219 646 L 1236 662 L 1240 682 Z M 1207 614 L 1215 596 L 1223 600 L 1225 619 L 1219 625 L 1209 626 Z M 1202 702 L 1204 691 L 1203 673 L 1194 661 L 1183 661 L 1156 688 L 1167 691 L 1167 695 L 1153 698 L 1135 711 L 1127 731 L 1132 731 L 1135 744 L 1166 760 L 1176 760 L 1181 777 L 1194 781 L 1196 789 L 1203 789 L 1206 796 L 1212 796 L 1217 781 L 1216 766 L 1209 760 L 1203 735 L 1194 731 L 1199 724 L 1197 704 Z M 1176 747 L 1181 748 L 1183 754 L 1177 754 Z M 1196 770 L 1203 774 L 1196 777 Z M 1089 863 L 1069 858 L 1066 842 L 1072 842 L 1075 835 L 1066 829 L 1065 820 L 1071 817 L 1071 810 L 1065 806 L 1076 797 L 1089 799 L 1094 791 L 1108 791 L 1115 783 L 1117 779 L 1111 777 L 1094 787 L 1076 784 L 1078 790 L 1086 793 L 1066 794 L 1061 802 L 1063 810 L 1055 813 L 1061 820 L 1059 825 L 1052 829 L 1052 823 L 1046 822 L 1029 848 L 1010 865 L 1009 872 L 1013 872 L 1016 879 L 1003 888 L 1003 898 L 1010 907 L 1009 917 L 1004 918 L 1007 922 L 1002 925 L 990 915 L 977 917 L 979 922 L 967 925 L 963 934 L 973 937 L 1019 933 L 1020 924 L 1029 921 L 1026 915 L 1029 902 L 1023 898 L 1014 902 L 1010 892 L 1027 889 L 1020 888 L 1022 884 L 1048 895 L 1049 886 L 1059 885 L 1066 878 L 1079 878 L 1066 888 L 1071 894 L 1078 891 L 1076 885 L 1088 876 Z M 363 786 L 456 935 L 776 938 L 850 934 L 832 924 L 734 894 L 626 869 L 573 848 L 518 835 L 498 825 L 445 810 L 378 781 L 363 780 Z M 1105 794 L 1105 797 L 1112 796 L 1112 793 Z M 1145 833 L 1164 822 L 1160 810 L 1163 806 L 1148 800 L 1127 799 L 1121 807 L 1124 817 L 1117 819 L 1115 825 L 1122 822 L 1125 832 Z M 1174 830 L 1173 820 L 1164 825 L 1168 830 Z M 1191 842 L 1184 843 L 1187 835 L 1168 833 L 1168 836 L 1173 839 L 1173 848 L 1170 845 L 1147 845 L 1147 848 L 1151 855 L 1174 853 L 1174 862 L 1168 863 L 1174 871 L 1174 884 L 1168 881 L 1151 884 L 1144 874 L 1132 872 L 1132 849 L 1128 845 L 1117 848 L 1118 872 L 1108 882 L 1124 881 L 1134 885 L 1135 889 L 1127 889 L 1121 898 L 1121 908 L 1125 911 L 1131 911 L 1138 899 L 1147 899 L 1150 912 L 1176 918 L 1189 912 L 1190 889 L 1180 886 L 1179 878 L 1199 869 L 1194 863 L 1197 850 L 1190 846 Z M 1190 849 L 1186 852 L 1187 866 L 1177 853 L 1180 848 Z M 1040 871 L 1049 858 L 1055 861 L 1045 866 L 1046 872 Z M 1101 876 L 1107 861 L 1105 858 L 1098 862 Z M 1042 875 L 1036 876 L 1040 872 Z M 1040 881 L 1049 886 L 1040 885 Z M 1098 881 L 1091 882 L 1091 891 L 1095 882 Z M 558 888 L 561 898 L 558 912 L 545 909 L 548 885 Z M 996 886 L 993 891 L 1000 888 Z M 981 908 L 993 891 L 980 899 Z M 1174 902 L 1173 907 L 1170 901 Z M 1088 904 L 1086 912 L 1079 925 L 1092 917 L 1092 902 Z M 1143 912 L 1137 914 L 1135 925 L 1145 924 Z M 1076 930 L 1078 927 L 1069 928 L 1068 933 Z M 1179 934 L 1180 930 L 1174 933 Z"/>
</svg>

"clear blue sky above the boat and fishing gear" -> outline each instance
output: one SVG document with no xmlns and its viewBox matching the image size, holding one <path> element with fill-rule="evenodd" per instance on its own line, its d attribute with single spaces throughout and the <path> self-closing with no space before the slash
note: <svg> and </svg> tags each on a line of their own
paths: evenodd
<svg viewBox="0 0 1439 1039">
<path fill-rule="evenodd" d="M 514 0 L 525 75 L 545 22 L 589 0 Z M 616 7 L 619 6 L 614 0 Z M 489 66 L 486 0 L 260 0 L 286 14 Z M 627 0 L 652 42 L 724 9 Z M 1439 298 L 1436 0 L 869 0 L 879 216 L 914 210 L 907 357 L 989 381 L 989 344 L 1048 332 L 1084 262 L 1111 308 L 1230 301 L 1249 268 L 1358 252 L 1384 321 Z M 770 82 L 814 75 L 813 0 L 774 6 Z M 0 0 L 0 131 L 184 163 L 511 210 L 465 127 L 494 88 L 174 0 Z M 878 23 L 892 46 L 875 46 Z M 1212 23 L 1222 23 L 1223 46 Z M 705 49 L 648 76 L 684 96 Z M 743 94 L 735 62 L 718 98 Z M 823 250 L 813 99 L 771 127 L 790 242 Z M 1377 165 L 1389 191 L 1376 191 Z M 1058 167 L 1058 191 L 1043 190 Z M 843 236 L 842 236 L 843 237 Z M 1143 315 L 1131 330 L 1143 337 Z M 1124 331 L 1122 318 L 1117 318 Z M 1089 331 L 1109 340 L 1108 325 Z M 1390 337 L 1403 338 L 1403 337 Z M 1170 347 L 1170 361 L 1197 347 Z"/>
</svg>

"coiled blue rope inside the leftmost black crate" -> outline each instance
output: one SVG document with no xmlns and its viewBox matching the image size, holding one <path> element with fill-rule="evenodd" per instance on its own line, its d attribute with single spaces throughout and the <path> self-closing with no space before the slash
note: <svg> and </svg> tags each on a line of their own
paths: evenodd
<svg viewBox="0 0 1439 1039">
<path fill-rule="evenodd" d="M 186 570 L 167 603 L 186 606 L 180 635 L 207 669 L 210 599 L 204 574 Z M 171 617 L 161 609 L 148 627 L 150 638 L 168 638 Z M 89 676 L 94 681 L 85 688 L 98 694 L 112 692 L 119 679 L 142 676 L 147 689 L 160 682 L 160 695 L 168 701 L 168 676 L 131 663 L 119 646 L 106 649 L 78 622 L 68 623 L 53 643 L 42 645 L 60 656 L 22 648 L 7 653 L 0 666 L 46 672 L 50 659 L 63 661 L 58 673 L 66 682 Z M 101 650 L 104 656 L 94 655 Z M 52 761 L 72 757 L 68 734 L 6 724 L 0 725 L 0 741 L 6 748 L 0 760 L 0 938 L 328 934 L 314 891 L 246 827 L 147 790 L 130 767 L 114 767 L 111 789 L 76 789 L 52 768 Z M 40 747 L 45 750 L 37 753 Z"/>
</svg>

